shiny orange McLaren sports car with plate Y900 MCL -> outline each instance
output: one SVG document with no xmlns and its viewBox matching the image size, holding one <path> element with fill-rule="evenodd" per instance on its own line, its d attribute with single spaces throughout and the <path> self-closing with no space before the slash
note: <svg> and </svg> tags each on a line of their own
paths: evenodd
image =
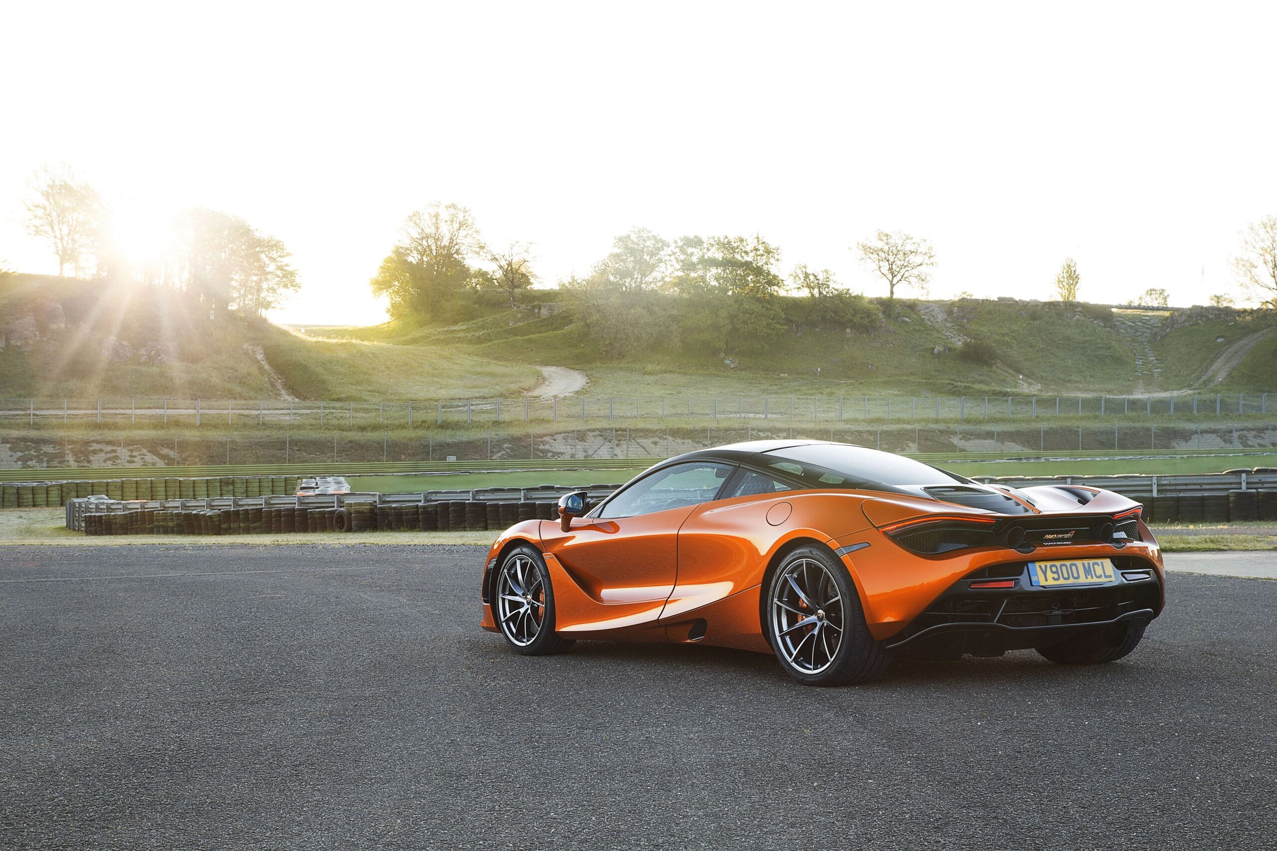
<svg viewBox="0 0 1277 851">
<path fill-rule="evenodd" d="M 492 545 L 483 626 L 520 653 L 576 639 L 774 653 L 796 680 L 868 680 L 893 657 L 1130 653 L 1163 605 L 1140 505 L 1015 490 L 842 443 L 769 440 L 661 462 Z"/>
</svg>

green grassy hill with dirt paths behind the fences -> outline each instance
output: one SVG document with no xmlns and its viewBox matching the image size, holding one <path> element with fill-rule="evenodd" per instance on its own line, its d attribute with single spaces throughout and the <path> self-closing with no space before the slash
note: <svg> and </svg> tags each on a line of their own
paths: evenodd
<svg viewBox="0 0 1277 851">
<path fill-rule="evenodd" d="M 536 291 L 541 302 L 558 293 Z M 788 300 L 790 306 L 799 300 Z M 790 311 L 802 315 L 801 310 Z M 871 330 L 792 322 L 770 351 L 690 355 L 673 339 L 604 357 L 568 311 L 493 306 L 453 324 L 308 328 L 211 319 L 166 290 L 0 277 L 0 396 L 363 401 L 513 396 L 538 366 L 582 370 L 590 396 L 1131 394 L 1277 385 L 1272 311 L 900 301 Z M 987 344 L 987 362 L 962 356 Z"/>
</svg>

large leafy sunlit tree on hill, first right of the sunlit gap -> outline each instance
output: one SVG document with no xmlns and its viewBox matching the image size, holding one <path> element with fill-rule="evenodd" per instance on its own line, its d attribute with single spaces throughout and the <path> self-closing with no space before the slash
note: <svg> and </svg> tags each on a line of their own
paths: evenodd
<svg viewBox="0 0 1277 851">
<path fill-rule="evenodd" d="M 470 263 L 483 242 L 465 207 L 435 202 L 410 214 L 400 240 L 370 281 L 386 296 L 391 314 L 437 316 L 474 279 Z"/>
</svg>

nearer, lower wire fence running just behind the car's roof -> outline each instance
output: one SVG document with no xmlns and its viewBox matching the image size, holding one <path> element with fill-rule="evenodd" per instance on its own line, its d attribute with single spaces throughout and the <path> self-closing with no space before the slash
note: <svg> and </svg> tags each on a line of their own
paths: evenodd
<svg viewBox="0 0 1277 851">
<path fill-rule="evenodd" d="M 517 461 L 581 458 L 667 458 L 683 452 L 759 439 L 819 439 L 896 453 L 1075 453 L 1120 450 L 1243 449 L 1277 445 L 1277 424 L 1231 422 L 1167 426 L 1119 422 L 1105 426 L 799 426 L 575 429 L 469 431 L 402 436 L 225 434 L 208 438 L 125 434 L 0 435 L 0 468 L 152 467 L 344 462 Z"/>
</svg>

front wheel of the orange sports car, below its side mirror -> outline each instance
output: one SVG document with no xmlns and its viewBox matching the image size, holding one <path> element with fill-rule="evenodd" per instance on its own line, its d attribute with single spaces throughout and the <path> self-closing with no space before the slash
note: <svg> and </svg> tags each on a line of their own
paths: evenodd
<svg viewBox="0 0 1277 851">
<path fill-rule="evenodd" d="M 541 554 L 520 546 L 497 573 L 493 615 L 506 640 L 526 656 L 561 653 L 573 644 L 554 634 L 554 588 Z"/>
</svg>

